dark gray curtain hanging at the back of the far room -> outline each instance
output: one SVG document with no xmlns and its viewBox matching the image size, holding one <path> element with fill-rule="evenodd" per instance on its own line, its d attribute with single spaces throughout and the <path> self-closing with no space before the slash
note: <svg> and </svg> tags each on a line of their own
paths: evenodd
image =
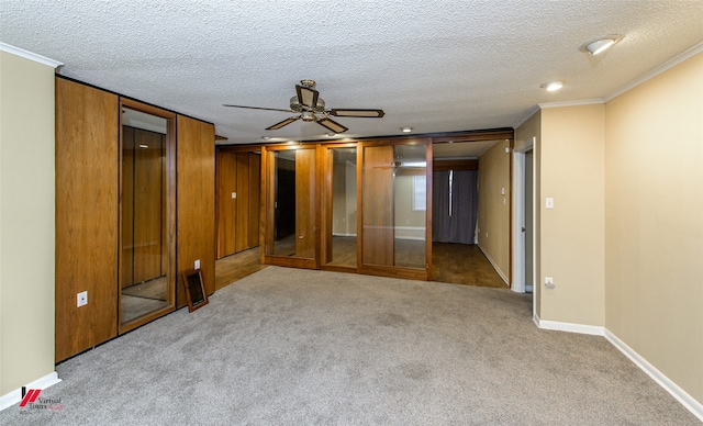
<svg viewBox="0 0 703 426">
<path fill-rule="evenodd" d="M 473 244 L 479 209 L 478 176 L 476 170 L 454 171 L 449 215 L 449 171 L 433 173 L 433 242 Z"/>
</svg>

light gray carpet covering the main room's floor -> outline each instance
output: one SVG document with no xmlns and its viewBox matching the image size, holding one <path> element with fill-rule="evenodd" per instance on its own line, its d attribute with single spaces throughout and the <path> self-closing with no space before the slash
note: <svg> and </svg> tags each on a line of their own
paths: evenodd
<svg viewBox="0 0 703 426">
<path fill-rule="evenodd" d="M 269 267 L 59 365 L 63 410 L 0 423 L 698 424 L 604 338 L 531 316 L 509 290 Z"/>
</svg>

